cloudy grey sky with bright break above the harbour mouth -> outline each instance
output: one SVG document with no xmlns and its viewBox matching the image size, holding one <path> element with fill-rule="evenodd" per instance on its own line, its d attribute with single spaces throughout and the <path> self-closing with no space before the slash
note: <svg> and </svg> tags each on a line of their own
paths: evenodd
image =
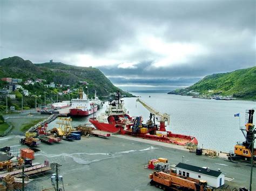
<svg viewBox="0 0 256 191">
<path fill-rule="evenodd" d="M 97 67 L 122 89 L 176 89 L 256 66 L 256 1 L 1 0 L 0 57 Z"/>
</svg>

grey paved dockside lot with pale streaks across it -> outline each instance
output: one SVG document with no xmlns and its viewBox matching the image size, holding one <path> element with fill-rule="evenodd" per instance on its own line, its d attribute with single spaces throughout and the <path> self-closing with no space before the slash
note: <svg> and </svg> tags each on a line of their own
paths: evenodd
<svg viewBox="0 0 256 191">
<path fill-rule="evenodd" d="M 19 136 L 0 138 L 3 146 L 20 148 Z M 142 139 L 139 139 L 142 140 Z M 57 162 L 61 164 L 60 175 L 63 175 L 65 190 L 159 190 L 149 186 L 150 169 L 144 169 L 148 160 L 167 158 L 170 164 L 184 162 L 196 166 L 207 166 L 221 171 L 234 178 L 226 181 L 231 188 L 247 187 L 250 180 L 250 166 L 234 164 L 223 158 L 208 158 L 198 156 L 177 148 L 163 147 L 150 143 L 119 137 L 109 139 L 98 137 L 83 137 L 82 140 L 59 144 L 38 146 L 34 162 Z M 253 190 L 256 189 L 256 168 L 254 168 Z M 52 172 L 53 173 L 53 172 Z M 40 188 L 51 187 L 51 173 L 40 178 L 33 177 Z"/>
</svg>

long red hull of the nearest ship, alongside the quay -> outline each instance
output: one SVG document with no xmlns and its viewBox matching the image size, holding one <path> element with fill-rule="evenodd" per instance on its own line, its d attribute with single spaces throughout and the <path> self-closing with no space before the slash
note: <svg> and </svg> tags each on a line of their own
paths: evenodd
<svg viewBox="0 0 256 191">
<path fill-rule="evenodd" d="M 123 130 L 123 128 L 120 128 L 120 127 L 118 128 L 117 125 L 98 122 L 95 118 L 90 118 L 89 121 L 95 126 L 95 128 L 101 131 L 106 131 L 111 133 L 120 132 L 120 134 L 126 135 L 126 136 L 139 137 L 143 139 L 150 139 L 158 142 L 165 142 L 165 143 L 176 144 L 181 146 L 185 146 L 187 144 L 194 144 L 194 145 L 198 144 L 198 140 L 196 139 L 196 137 L 186 136 L 181 134 L 174 134 L 170 131 L 167 131 L 167 136 L 165 137 L 157 136 L 157 135 L 149 135 L 149 133 L 147 134 L 137 133 L 136 135 L 134 135 L 130 131 L 125 131 Z"/>
</svg>

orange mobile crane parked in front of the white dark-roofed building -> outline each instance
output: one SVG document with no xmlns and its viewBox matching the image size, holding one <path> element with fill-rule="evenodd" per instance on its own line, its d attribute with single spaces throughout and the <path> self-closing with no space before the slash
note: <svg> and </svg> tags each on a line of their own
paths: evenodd
<svg viewBox="0 0 256 191">
<path fill-rule="evenodd" d="M 164 172 L 156 172 L 150 174 L 151 179 L 150 185 L 159 187 L 160 189 L 175 189 L 175 190 L 185 190 L 191 189 L 196 191 L 204 191 L 207 186 L 205 180 L 195 180 L 195 179 L 185 179 L 177 176 L 176 173 L 167 174 Z M 211 190 L 211 189 L 207 189 Z"/>
</svg>

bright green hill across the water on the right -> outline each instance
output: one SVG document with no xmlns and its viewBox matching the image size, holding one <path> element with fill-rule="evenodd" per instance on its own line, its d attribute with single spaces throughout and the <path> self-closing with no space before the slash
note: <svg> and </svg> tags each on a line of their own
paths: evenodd
<svg viewBox="0 0 256 191">
<path fill-rule="evenodd" d="M 212 74 L 184 89 L 169 94 L 223 95 L 235 98 L 256 100 L 256 67 L 239 69 L 230 73 Z"/>
</svg>

